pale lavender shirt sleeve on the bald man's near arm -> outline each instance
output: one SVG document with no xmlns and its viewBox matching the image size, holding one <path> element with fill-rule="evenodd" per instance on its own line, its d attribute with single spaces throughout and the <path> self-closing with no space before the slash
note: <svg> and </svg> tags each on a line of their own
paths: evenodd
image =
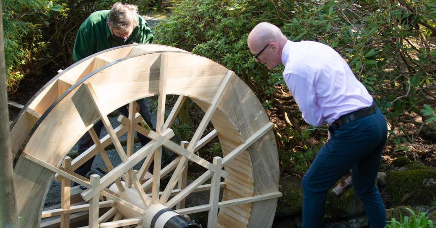
<svg viewBox="0 0 436 228">
<path fill-rule="evenodd" d="M 313 126 L 321 126 L 324 119 L 316 99 L 316 72 L 309 66 L 299 68 L 298 72 L 284 75 L 286 84 L 297 102 L 304 121 Z"/>
</svg>

